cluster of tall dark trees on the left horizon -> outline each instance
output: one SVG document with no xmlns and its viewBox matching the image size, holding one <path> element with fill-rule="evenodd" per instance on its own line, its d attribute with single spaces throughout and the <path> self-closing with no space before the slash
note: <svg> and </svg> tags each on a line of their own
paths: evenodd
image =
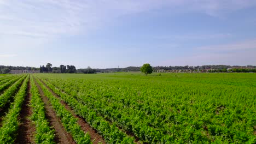
<svg viewBox="0 0 256 144">
<path fill-rule="evenodd" d="M 60 65 L 60 67 L 53 67 L 51 63 L 47 63 L 44 67 L 40 65 L 40 73 L 77 73 L 77 69 L 74 65 Z"/>
</svg>

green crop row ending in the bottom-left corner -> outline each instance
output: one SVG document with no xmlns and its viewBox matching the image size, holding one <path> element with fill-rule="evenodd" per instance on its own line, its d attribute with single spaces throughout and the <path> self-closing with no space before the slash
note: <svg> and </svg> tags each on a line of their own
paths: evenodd
<svg viewBox="0 0 256 144">
<path fill-rule="evenodd" d="M 3 118 L 2 127 L 0 128 L 0 143 L 14 143 L 16 132 L 19 126 L 18 116 L 21 111 L 22 103 L 26 96 L 27 84 L 30 76 L 26 76 L 19 92 L 14 97 L 7 115 Z"/>
</svg>

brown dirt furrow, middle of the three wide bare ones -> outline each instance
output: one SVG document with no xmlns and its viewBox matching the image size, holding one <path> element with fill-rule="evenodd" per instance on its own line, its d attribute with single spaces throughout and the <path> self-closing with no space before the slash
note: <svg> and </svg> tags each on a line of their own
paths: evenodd
<svg viewBox="0 0 256 144">
<path fill-rule="evenodd" d="M 49 100 L 47 97 L 45 97 L 42 88 L 38 85 L 36 82 L 36 85 L 39 89 L 39 93 L 42 97 L 42 100 L 44 101 L 44 106 L 46 110 L 46 118 L 50 122 L 51 127 L 54 128 L 55 130 L 55 142 L 56 143 L 75 143 L 74 140 L 72 139 L 72 136 L 67 133 L 63 125 L 61 124 L 60 119 L 57 117 L 55 111 L 53 110 L 53 107 L 51 106 Z"/>
</svg>

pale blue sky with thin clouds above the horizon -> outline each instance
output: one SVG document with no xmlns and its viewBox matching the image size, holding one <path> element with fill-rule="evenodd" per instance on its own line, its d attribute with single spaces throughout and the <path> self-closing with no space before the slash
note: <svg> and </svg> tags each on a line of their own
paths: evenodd
<svg viewBox="0 0 256 144">
<path fill-rule="evenodd" d="M 0 65 L 256 65 L 256 1 L 0 0 Z"/>
</svg>

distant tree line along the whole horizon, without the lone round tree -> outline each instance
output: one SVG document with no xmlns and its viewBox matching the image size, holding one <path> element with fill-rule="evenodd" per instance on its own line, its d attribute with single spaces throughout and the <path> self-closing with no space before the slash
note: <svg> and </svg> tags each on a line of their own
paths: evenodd
<svg viewBox="0 0 256 144">
<path fill-rule="evenodd" d="M 108 68 L 108 69 L 76 69 L 74 65 L 60 65 L 60 67 L 52 67 L 50 63 L 45 66 L 40 66 L 40 68 L 35 67 L 14 67 L 14 66 L 5 66 L 0 65 L 0 73 L 7 74 L 11 70 L 40 70 L 40 73 L 84 73 L 84 74 L 93 74 L 93 73 L 111 73 L 119 71 L 140 71 L 141 67 L 127 67 L 127 68 Z M 211 69 L 211 70 L 208 70 Z M 256 73 L 256 66 L 253 65 L 201 65 L 201 66 L 157 66 L 153 67 L 154 71 L 158 70 L 193 70 L 193 71 L 202 71 L 208 73 L 222 73 L 222 72 L 234 72 L 234 73 Z"/>
</svg>

